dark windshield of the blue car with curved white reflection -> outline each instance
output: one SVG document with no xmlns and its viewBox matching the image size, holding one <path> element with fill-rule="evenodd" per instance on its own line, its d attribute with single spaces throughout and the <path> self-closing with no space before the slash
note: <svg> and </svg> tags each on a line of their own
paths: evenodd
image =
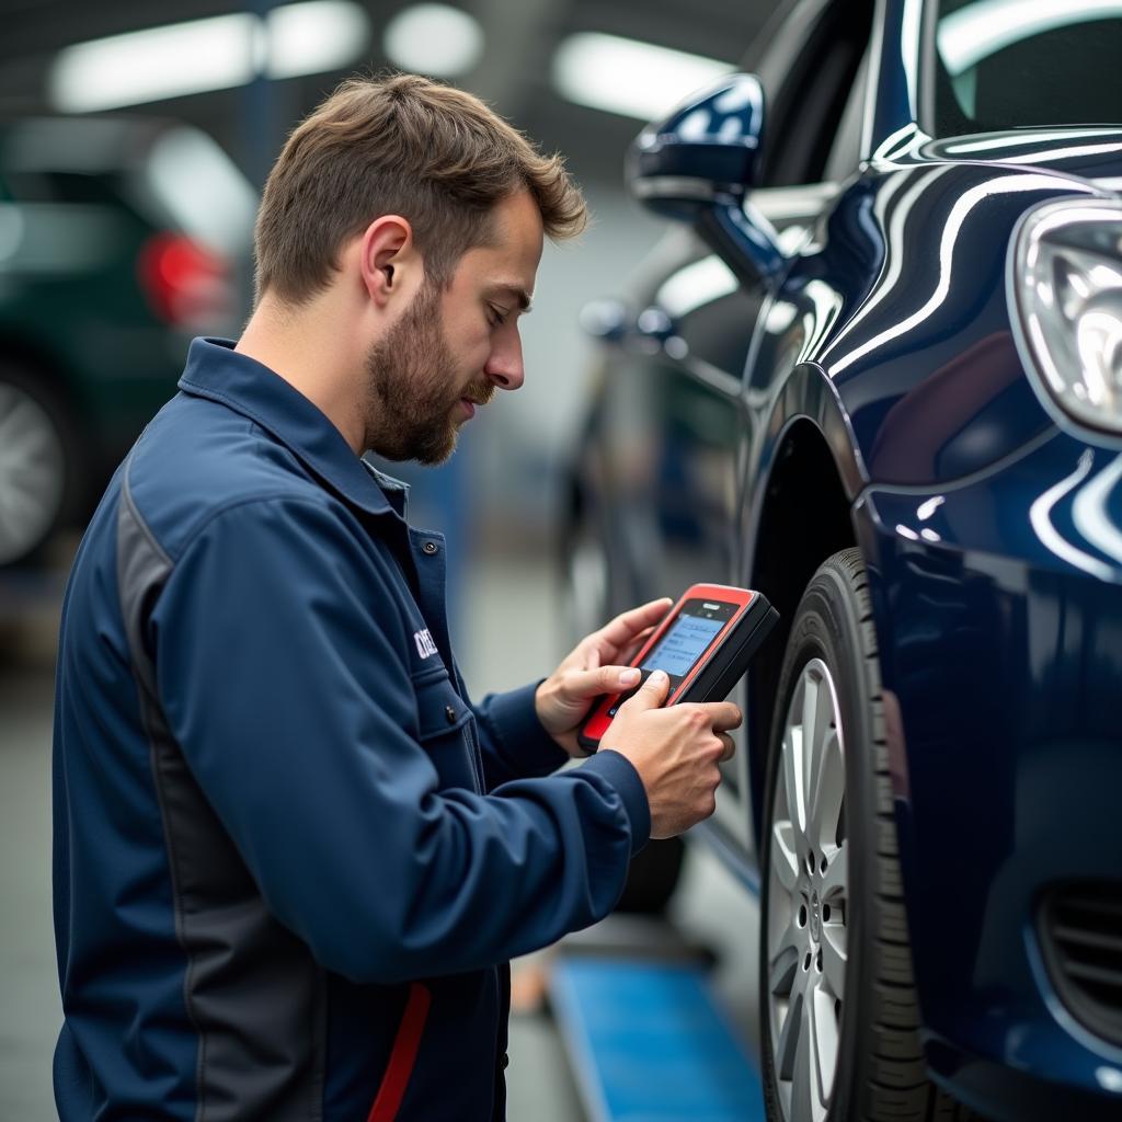
<svg viewBox="0 0 1122 1122">
<path fill-rule="evenodd" d="M 935 135 L 1122 123 L 1122 0 L 938 0 Z"/>
</svg>

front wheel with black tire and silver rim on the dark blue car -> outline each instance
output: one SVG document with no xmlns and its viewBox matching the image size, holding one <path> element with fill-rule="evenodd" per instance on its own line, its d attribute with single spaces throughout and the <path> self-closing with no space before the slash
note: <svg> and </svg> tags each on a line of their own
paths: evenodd
<svg viewBox="0 0 1122 1122">
<path fill-rule="evenodd" d="M 802 597 L 772 729 L 760 939 L 767 1118 L 977 1120 L 928 1079 L 919 1046 L 881 674 L 858 550 L 827 560 Z"/>
</svg>

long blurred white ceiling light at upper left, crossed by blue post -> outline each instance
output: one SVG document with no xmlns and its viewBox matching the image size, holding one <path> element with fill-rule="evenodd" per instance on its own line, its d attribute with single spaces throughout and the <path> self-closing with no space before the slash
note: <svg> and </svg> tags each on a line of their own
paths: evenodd
<svg viewBox="0 0 1122 1122">
<path fill-rule="evenodd" d="M 284 4 L 264 25 L 236 12 L 112 35 L 58 53 L 50 100 L 67 112 L 90 112 L 227 90 L 261 71 L 319 74 L 358 58 L 368 36 L 366 12 L 352 0 Z"/>
</svg>

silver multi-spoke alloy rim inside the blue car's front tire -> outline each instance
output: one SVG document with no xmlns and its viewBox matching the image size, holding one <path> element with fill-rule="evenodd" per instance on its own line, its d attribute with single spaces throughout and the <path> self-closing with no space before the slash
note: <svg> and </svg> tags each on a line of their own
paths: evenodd
<svg viewBox="0 0 1122 1122">
<path fill-rule="evenodd" d="M 845 1000 L 845 746 L 829 668 L 811 659 L 788 706 L 772 807 L 767 1017 L 787 1122 L 822 1122 Z"/>
</svg>

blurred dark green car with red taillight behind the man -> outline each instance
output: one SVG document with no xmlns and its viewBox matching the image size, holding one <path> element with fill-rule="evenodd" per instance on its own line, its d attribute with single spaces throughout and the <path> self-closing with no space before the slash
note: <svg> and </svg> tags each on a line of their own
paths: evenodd
<svg viewBox="0 0 1122 1122">
<path fill-rule="evenodd" d="M 256 204 L 190 126 L 0 122 L 0 565 L 85 519 L 193 335 L 237 333 Z"/>
</svg>

